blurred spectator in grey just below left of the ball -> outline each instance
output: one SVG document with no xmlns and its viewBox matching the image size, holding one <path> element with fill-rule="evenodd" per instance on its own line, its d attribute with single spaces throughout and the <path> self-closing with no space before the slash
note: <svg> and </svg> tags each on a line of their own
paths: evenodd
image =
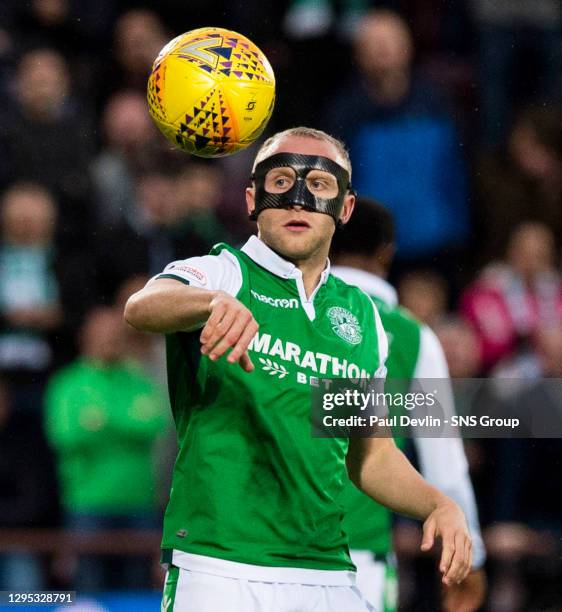
<svg viewBox="0 0 562 612">
<path fill-rule="evenodd" d="M 146 95 L 120 91 L 108 101 L 101 121 L 104 149 L 91 172 L 96 217 L 115 225 L 136 214 L 135 180 L 156 165 L 156 128 L 146 107 Z"/>
</svg>

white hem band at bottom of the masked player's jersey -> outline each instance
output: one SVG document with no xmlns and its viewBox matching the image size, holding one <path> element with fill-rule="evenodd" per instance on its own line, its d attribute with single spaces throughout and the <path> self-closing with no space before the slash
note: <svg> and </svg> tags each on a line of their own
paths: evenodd
<svg viewBox="0 0 562 612">
<path fill-rule="evenodd" d="M 217 557 L 194 555 L 174 550 L 172 564 L 182 569 L 211 574 L 223 578 L 314 584 L 319 586 L 354 586 L 355 572 L 305 569 L 300 567 L 269 567 L 237 563 Z"/>
</svg>

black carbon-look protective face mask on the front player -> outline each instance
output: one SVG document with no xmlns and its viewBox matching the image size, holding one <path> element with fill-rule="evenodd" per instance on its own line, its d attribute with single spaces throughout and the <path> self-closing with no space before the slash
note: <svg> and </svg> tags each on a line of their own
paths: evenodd
<svg viewBox="0 0 562 612">
<path fill-rule="evenodd" d="M 294 185 L 284 193 L 270 193 L 265 189 L 266 174 L 273 168 L 291 168 L 295 173 Z M 311 170 L 322 170 L 336 177 L 338 194 L 334 198 L 320 198 L 307 187 L 306 177 Z M 302 206 L 305 210 L 330 215 L 336 224 L 343 208 L 345 195 L 353 193 L 349 172 L 335 161 L 321 155 L 301 155 L 300 153 L 277 153 L 261 161 L 254 170 L 256 207 L 250 219 L 256 220 L 266 208 L 290 208 Z"/>
</svg>

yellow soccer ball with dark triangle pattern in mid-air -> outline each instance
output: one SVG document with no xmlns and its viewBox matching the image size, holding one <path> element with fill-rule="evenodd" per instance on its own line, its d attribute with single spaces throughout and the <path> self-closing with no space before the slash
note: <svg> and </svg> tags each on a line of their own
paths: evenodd
<svg viewBox="0 0 562 612">
<path fill-rule="evenodd" d="M 231 155 L 263 132 L 275 102 L 265 55 L 242 34 L 199 28 L 170 41 L 148 79 L 148 108 L 173 144 L 201 157 Z"/>
</svg>

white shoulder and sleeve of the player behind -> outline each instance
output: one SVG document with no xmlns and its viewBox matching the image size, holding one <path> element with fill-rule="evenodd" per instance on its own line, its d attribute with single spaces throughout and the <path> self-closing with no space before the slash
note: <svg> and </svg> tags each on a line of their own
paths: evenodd
<svg viewBox="0 0 562 612">
<path fill-rule="evenodd" d="M 389 306 L 396 305 L 396 292 L 382 278 L 363 270 L 334 266 L 332 273 L 349 284 L 355 284 Z M 446 415 L 455 413 L 453 391 L 449 382 L 449 368 L 443 348 L 435 333 L 424 325 L 421 330 L 420 351 L 414 370 L 416 384 L 423 388 L 424 379 L 439 378 L 439 401 Z M 428 391 L 433 390 L 431 386 Z M 479 568 L 486 559 L 486 550 L 480 533 L 478 510 L 474 490 L 468 473 L 468 463 L 460 438 L 414 438 L 414 444 L 424 478 L 440 491 L 454 499 L 463 510 L 473 542 L 473 568 Z"/>
</svg>

